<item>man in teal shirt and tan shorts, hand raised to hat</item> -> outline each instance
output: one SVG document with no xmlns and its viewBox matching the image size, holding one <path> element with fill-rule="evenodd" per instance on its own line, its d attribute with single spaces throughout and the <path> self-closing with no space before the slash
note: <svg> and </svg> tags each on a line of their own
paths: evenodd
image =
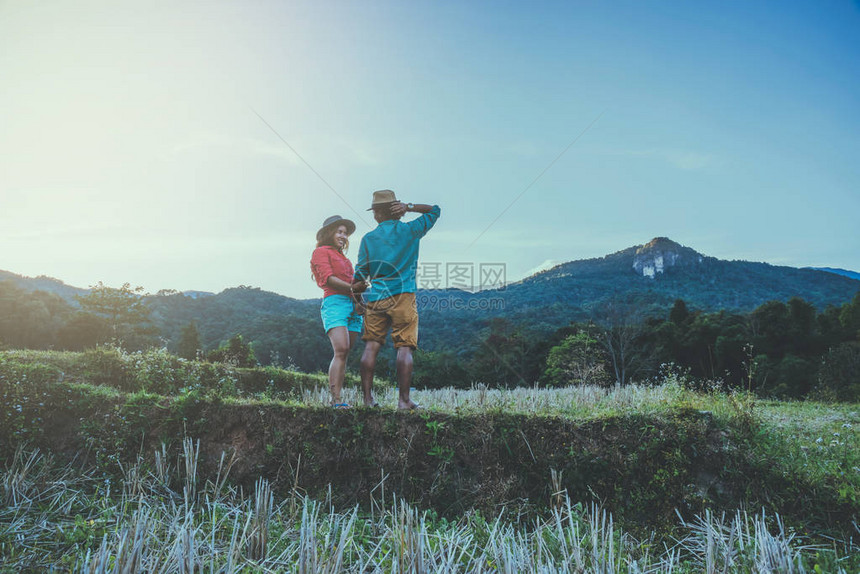
<svg viewBox="0 0 860 574">
<path fill-rule="evenodd" d="M 390 189 L 373 192 L 376 229 L 361 239 L 355 282 L 371 283 L 365 292 L 367 311 L 364 317 L 364 354 L 361 356 L 361 386 L 364 404 L 376 406 L 373 399 L 373 370 L 376 357 L 385 343 L 388 330 L 397 351 L 397 408 L 415 409 L 409 398 L 412 384 L 412 351 L 418 347 L 418 308 L 415 303 L 415 272 L 418 268 L 418 244 L 439 219 L 438 205 L 403 203 Z M 408 212 L 421 217 L 404 223 Z"/>
</svg>

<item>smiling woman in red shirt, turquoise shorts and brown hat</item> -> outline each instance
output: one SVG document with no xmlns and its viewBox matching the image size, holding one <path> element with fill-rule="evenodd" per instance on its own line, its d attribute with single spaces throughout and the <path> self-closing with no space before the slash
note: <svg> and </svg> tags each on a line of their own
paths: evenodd
<svg viewBox="0 0 860 574">
<path fill-rule="evenodd" d="M 334 408 L 348 409 L 341 399 L 346 358 L 361 334 L 362 317 L 356 311 L 358 294 L 367 288 L 364 281 L 353 284 L 352 263 L 346 258 L 349 236 L 355 223 L 339 215 L 332 215 L 317 231 L 317 248 L 311 256 L 311 272 L 323 290 L 320 307 L 323 328 L 334 352 L 328 367 L 328 384 Z"/>
</svg>

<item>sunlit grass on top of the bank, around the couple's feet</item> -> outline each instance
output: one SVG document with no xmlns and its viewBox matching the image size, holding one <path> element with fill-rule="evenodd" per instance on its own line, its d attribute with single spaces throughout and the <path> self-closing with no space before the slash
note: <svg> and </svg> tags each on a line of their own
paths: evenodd
<svg viewBox="0 0 860 574">
<path fill-rule="evenodd" d="M 121 400 L 124 392 L 132 392 L 163 395 L 174 402 L 187 396 L 236 405 L 318 407 L 329 402 L 327 379 L 321 374 L 237 369 L 185 361 L 163 350 L 3 351 L 0 376 L 3 373 L 40 384 L 62 381 L 94 399 Z M 344 399 L 360 405 L 357 382 L 350 379 Z M 778 460 L 786 474 L 829 484 L 841 497 L 860 504 L 860 404 L 762 401 L 744 393 L 695 392 L 685 382 L 670 372 L 656 385 L 510 390 L 475 385 L 471 390 L 416 391 L 414 397 L 432 413 L 453 416 L 506 413 L 593 421 L 677 409 L 707 412 L 723 425 L 755 427 L 758 440 L 751 448 Z M 375 393 L 384 408 L 396 405 L 396 389 L 389 382 L 377 381 Z"/>
</svg>

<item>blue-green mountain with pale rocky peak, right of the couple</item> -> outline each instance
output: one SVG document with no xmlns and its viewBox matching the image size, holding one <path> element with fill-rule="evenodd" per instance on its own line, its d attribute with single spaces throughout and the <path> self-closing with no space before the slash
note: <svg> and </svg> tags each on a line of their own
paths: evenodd
<svg viewBox="0 0 860 574">
<path fill-rule="evenodd" d="M 720 260 L 657 237 L 604 257 L 562 263 L 504 289 L 422 292 L 419 305 L 424 303 L 422 341 L 426 333 L 428 346 L 453 349 L 495 317 L 548 331 L 622 309 L 639 317 L 665 316 L 676 299 L 703 311 L 745 312 L 767 301 L 801 297 L 823 309 L 858 291 L 860 280 L 850 277 Z"/>
</svg>

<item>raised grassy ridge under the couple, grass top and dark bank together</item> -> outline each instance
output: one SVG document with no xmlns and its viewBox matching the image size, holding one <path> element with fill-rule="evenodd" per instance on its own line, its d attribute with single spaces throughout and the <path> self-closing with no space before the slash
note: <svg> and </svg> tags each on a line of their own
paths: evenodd
<svg viewBox="0 0 860 574">
<path fill-rule="evenodd" d="M 356 392 L 353 381 L 349 400 Z M 394 403 L 392 389 L 377 394 Z M 0 395 L 7 466 L 26 444 L 123 488 L 131 468 L 167 476 L 184 465 L 193 437 L 201 484 L 232 461 L 229 484 L 245 492 L 265 477 L 281 500 L 300 493 L 344 511 L 396 492 L 438 520 L 503 509 L 528 524 L 564 493 L 640 539 L 671 534 L 676 511 L 689 526 L 763 508 L 818 540 L 850 536 L 860 515 L 858 405 L 693 392 L 671 375 L 651 387 L 422 392 L 420 413 L 332 411 L 320 375 L 159 351 L 16 351 L 0 353 Z M 161 484 L 182 493 L 185 480 Z"/>
</svg>

